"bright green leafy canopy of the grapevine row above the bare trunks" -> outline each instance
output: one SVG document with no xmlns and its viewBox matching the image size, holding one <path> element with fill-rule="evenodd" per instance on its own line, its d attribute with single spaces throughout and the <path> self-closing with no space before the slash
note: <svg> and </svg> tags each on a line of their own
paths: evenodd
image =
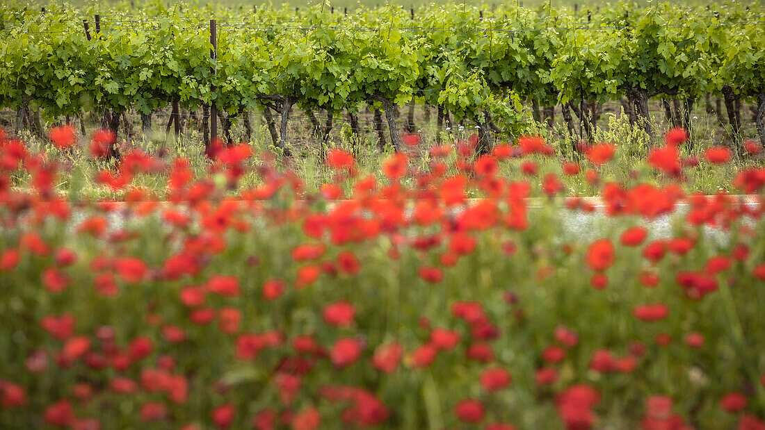
<svg viewBox="0 0 765 430">
<path fill-rule="evenodd" d="M 589 17 L 454 4 L 413 18 L 395 6 L 343 15 L 328 5 L 251 11 L 155 2 L 99 12 L 102 31 L 91 20 L 88 40 L 83 14 L 93 8 L 53 5 L 40 15 L 11 2 L 0 17 L 0 105 L 73 116 L 214 101 L 236 116 L 275 96 L 332 113 L 414 98 L 457 119 L 480 122 L 488 113 L 512 129 L 519 100 L 605 102 L 633 89 L 698 99 L 726 84 L 751 97 L 765 86 L 765 28 L 745 24 L 760 19 L 760 5 L 619 3 Z M 215 59 L 210 18 L 219 21 Z"/>
</svg>

